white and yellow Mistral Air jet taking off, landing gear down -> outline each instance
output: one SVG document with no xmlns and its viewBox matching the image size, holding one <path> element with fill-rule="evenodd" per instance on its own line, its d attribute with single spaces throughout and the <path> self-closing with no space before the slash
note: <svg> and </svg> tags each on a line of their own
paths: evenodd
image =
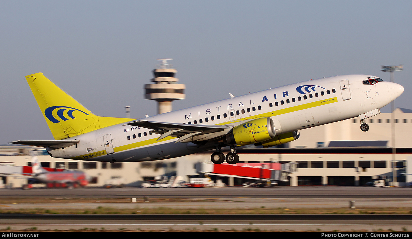
<svg viewBox="0 0 412 239">
<path fill-rule="evenodd" d="M 359 117 L 361 130 L 368 131 L 365 119 L 404 91 L 372 75 L 339 75 L 131 120 L 94 115 L 43 73 L 26 80 L 54 140 L 10 143 L 44 147 L 52 157 L 101 162 L 154 161 L 215 150 L 213 163 L 236 164 L 236 147 L 288 143 L 302 129 Z M 227 146 L 225 156 L 221 148 Z"/>
</svg>

